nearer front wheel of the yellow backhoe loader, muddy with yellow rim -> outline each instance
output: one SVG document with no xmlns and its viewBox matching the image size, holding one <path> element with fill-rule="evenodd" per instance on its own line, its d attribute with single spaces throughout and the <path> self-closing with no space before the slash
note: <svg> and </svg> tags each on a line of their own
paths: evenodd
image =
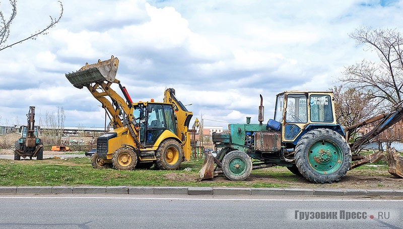
<svg viewBox="0 0 403 229">
<path fill-rule="evenodd" d="M 112 165 L 118 170 L 132 170 L 137 164 L 137 155 L 133 149 L 120 147 L 113 152 Z"/>
</svg>

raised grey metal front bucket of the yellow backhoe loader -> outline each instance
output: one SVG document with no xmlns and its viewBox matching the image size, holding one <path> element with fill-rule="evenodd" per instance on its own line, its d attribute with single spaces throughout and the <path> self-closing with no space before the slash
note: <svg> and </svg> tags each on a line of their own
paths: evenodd
<svg viewBox="0 0 403 229">
<path fill-rule="evenodd" d="M 108 60 L 98 60 L 93 64 L 86 63 L 80 70 L 65 75 L 74 87 L 82 89 L 96 82 L 114 82 L 118 65 L 117 57 L 111 56 Z"/>
</svg>

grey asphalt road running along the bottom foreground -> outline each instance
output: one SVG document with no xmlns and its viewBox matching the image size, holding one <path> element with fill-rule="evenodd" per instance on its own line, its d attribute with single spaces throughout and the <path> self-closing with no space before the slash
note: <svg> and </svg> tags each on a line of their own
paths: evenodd
<svg viewBox="0 0 403 229">
<path fill-rule="evenodd" d="M 275 198 L 4 195 L 0 196 L 0 228 L 400 228 L 403 225 L 403 200 Z"/>
</svg>

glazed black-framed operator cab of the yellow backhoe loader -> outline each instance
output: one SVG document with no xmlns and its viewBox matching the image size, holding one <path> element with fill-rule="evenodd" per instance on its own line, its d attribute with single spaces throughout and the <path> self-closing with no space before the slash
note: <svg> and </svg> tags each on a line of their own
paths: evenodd
<svg viewBox="0 0 403 229">
<path fill-rule="evenodd" d="M 172 104 L 138 103 L 133 106 L 133 116 L 140 124 L 140 142 L 154 145 L 158 137 L 169 130 L 176 135 L 176 120 Z"/>
</svg>

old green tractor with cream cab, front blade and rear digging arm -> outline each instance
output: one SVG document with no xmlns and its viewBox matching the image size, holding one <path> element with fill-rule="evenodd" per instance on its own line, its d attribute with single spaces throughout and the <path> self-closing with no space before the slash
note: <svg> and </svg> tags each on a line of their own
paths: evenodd
<svg viewBox="0 0 403 229">
<path fill-rule="evenodd" d="M 216 157 L 206 154 L 200 179 L 224 174 L 230 180 L 241 181 L 252 169 L 284 166 L 311 182 L 332 183 L 341 180 L 353 166 L 379 160 L 381 154 L 359 155 L 360 146 L 401 120 L 401 107 L 353 126 L 380 120 L 373 131 L 349 144 L 348 131 L 354 128 L 337 123 L 332 101 L 332 92 L 283 92 L 277 95 L 274 119 L 263 124 L 260 95 L 259 124 L 251 124 L 247 117 L 246 124 L 229 124 L 230 133 L 213 133 L 216 150 L 221 150 Z M 360 161 L 352 164 L 352 160 Z"/>
</svg>

